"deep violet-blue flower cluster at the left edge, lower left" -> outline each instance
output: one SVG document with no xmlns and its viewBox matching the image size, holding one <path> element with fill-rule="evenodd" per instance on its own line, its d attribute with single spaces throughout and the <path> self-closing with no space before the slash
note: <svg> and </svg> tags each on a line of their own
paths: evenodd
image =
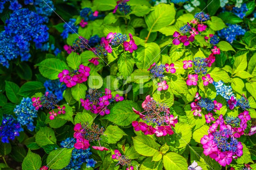
<svg viewBox="0 0 256 170">
<path fill-rule="evenodd" d="M 2 143 L 9 143 L 16 136 L 20 136 L 23 131 L 20 123 L 12 115 L 3 115 L 3 121 L 0 126 L 0 139 Z"/>
</svg>

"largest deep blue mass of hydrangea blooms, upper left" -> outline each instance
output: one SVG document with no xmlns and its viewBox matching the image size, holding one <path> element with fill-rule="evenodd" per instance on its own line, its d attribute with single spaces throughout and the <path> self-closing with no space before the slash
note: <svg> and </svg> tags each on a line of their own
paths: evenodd
<svg viewBox="0 0 256 170">
<path fill-rule="evenodd" d="M 42 49 L 49 39 L 48 27 L 43 23 L 41 16 L 26 8 L 14 11 L 0 33 L 0 64 L 8 68 L 8 61 L 18 56 L 21 61 L 28 61 L 31 43 Z"/>
</svg>

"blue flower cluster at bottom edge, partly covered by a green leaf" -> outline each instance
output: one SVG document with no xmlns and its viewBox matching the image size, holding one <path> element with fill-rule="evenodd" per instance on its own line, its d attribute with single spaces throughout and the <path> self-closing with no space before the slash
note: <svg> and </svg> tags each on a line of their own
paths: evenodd
<svg viewBox="0 0 256 170">
<path fill-rule="evenodd" d="M 73 148 L 75 143 L 75 139 L 72 140 L 72 138 L 67 138 L 60 143 L 60 146 L 65 148 Z M 86 159 L 88 159 L 91 154 L 92 152 L 90 152 L 90 148 L 86 150 L 73 149 L 70 163 L 62 170 L 80 170 L 81 165 L 86 162 Z"/>
</svg>

